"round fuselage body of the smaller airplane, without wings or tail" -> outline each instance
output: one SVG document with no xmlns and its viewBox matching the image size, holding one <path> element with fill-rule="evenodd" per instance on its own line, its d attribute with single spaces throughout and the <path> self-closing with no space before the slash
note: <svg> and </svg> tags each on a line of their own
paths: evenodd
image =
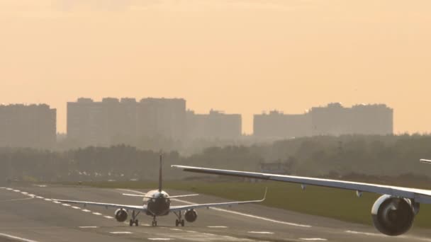
<svg viewBox="0 0 431 242">
<path fill-rule="evenodd" d="M 169 199 L 169 194 L 163 190 L 161 192 L 159 190 L 147 192 L 142 202 L 147 205 L 147 215 L 164 216 L 169 214 L 171 200 Z"/>
</svg>

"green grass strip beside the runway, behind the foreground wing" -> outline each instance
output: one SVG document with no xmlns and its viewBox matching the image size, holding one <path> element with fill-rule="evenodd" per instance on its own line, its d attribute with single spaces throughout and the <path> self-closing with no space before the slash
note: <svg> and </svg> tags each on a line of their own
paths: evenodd
<svg viewBox="0 0 431 242">
<path fill-rule="evenodd" d="M 97 188 L 157 188 L 157 183 L 145 182 L 91 182 L 82 183 L 82 185 Z M 379 195 L 368 192 L 364 192 L 362 197 L 357 197 L 354 191 L 315 186 L 308 186 L 306 190 L 301 190 L 301 185 L 298 184 L 276 182 L 209 183 L 202 181 L 179 181 L 164 183 L 164 190 L 168 192 L 169 190 L 189 190 L 229 200 L 260 199 L 266 187 L 268 187 L 267 200 L 262 203 L 265 206 L 360 224 L 371 224 L 371 207 L 379 197 Z M 421 204 L 420 212 L 415 219 L 415 226 L 431 228 L 430 218 L 431 206 Z"/>
</svg>

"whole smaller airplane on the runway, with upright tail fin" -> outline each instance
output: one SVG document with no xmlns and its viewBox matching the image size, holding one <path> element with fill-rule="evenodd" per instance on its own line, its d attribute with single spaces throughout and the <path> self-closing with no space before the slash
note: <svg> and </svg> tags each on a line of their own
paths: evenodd
<svg viewBox="0 0 431 242">
<path fill-rule="evenodd" d="M 247 203 L 257 203 L 263 202 L 267 197 L 267 190 L 265 190 L 264 197 L 262 200 L 252 200 L 252 201 L 240 201 L 240 202 L 219 202 L 219 203 L 206 203 L 206 204 L 191 204 L 191 205 L 181 205 L 181 206 L 171 206 L 171 199 L 179 198 L 179 197 L 191 197 L 196 196 L 198 194 L 190 194 L 190 195 L 177 195 L 177 196 L 169 196 L 167 192 L 162 190 L 162 155 L 160 155 L 159 159 L 159 187 L 157 190 L 150 190 L 145 193 L 145 195 L 135 195 L 135 194 L 127 194 L 123 193 L 125 196 L 131 197 L 143 197 L 143 204 L 134 206 L 127 204 L 111 204 L 111 203 L 103 203 L 103 202 L 86 202 L 86 201 L 73 201 L 73 200 L 57 200 L 52 199 L 58 202 L 63 202 L 67 204 L 81 204 L 86 207 L 87 205 L 116 208 L 116 212 L 114 212 L 115 219 L 118 222 L 124 222 L 128 218 L 128 212 L 132 211 L 132 218 L 129 221 L 129 225 L 135 226 L 139 225 L 138 215 L 142 212 L 151 216 L 152 226 L 157 226 L 156 217 L 166 216 L 170 212 L 174 213 L 177 216 L 175 220 L 175 226 L 184 226 L 184 219 L 187 222 L 192 223 L 196 221 L 198 214 L 195 209 L 202 207 L 230 207 L 232 205 L 237 204 L 247 204 Z M 183 213 L 184 212 L 184 219 Z"/>
</svg>

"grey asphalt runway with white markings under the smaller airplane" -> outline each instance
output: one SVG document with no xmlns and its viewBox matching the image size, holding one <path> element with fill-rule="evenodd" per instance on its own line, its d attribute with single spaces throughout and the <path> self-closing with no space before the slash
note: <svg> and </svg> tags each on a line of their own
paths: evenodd
<svg viewBox="0 0 431 242">
<path fill-rule="evenodd" d="M 372 226 L 274 209 L 259 204 L 198 209 L 198 219 L 176 227 L 174 214 L 152 218 L 140 214 L 140 226 L 130 227 L 113 218 L 113 209 L 77 207 L 52 201 L 86 200 L 141 204 L 145 190 L 116 190 L 61 185 L 0 187 L 0 241 L 430 241 L 431 231 L 413 228 L 390 237 Z M 169 195 L 190 192 L 169 191 Z M 270 192 L 270 191 L 269 191 Z M 257 197 L 258 198 L 258 197 Z M 172 205 L 223 202 L 207 195 L 172 200 Z M 371 216 L 371 215 L 370 215 Z"/>
</svg>

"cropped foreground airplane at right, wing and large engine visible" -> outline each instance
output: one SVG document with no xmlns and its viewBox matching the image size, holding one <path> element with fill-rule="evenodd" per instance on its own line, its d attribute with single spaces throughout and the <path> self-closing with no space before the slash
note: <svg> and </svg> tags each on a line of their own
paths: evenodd
<svg viewBox="0 0 431 242">
<path fill-rule="evenodd" d="M 431 160 L 420 159 L 422 163 L 431 163 Z M 183 171 L 194 173 L 207 173 L 215 175 L 231 175 L 243 178 L 257 178 L 263 180 L 276 180 L 286 183 L 301 184 L 302 189 L 306 185 L 317 185 L 328 188 L 340 188 L 356 190 L 358 197 L 362 192 L 374 192 L 381 194 L 371 208 L 371 217 L 374 227 L 382 234 L 398 236 L 405 234 L 413 225 L 413 220 L 419 212 L 420 204 L 431 204 L 431 190 L 415 188 L 401 188 L 390 185 L 378 185 L 370 183 L 356 183 L 346 180 L 330 180 L 322 178 L 309 178 L 294 175 L 277 175 L 269 173 L 257 173 L 247 171 L 231 171 L 194 166 L 178 166 Z"/>
</svg>

